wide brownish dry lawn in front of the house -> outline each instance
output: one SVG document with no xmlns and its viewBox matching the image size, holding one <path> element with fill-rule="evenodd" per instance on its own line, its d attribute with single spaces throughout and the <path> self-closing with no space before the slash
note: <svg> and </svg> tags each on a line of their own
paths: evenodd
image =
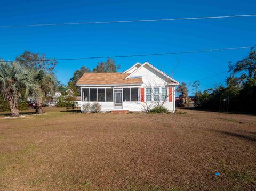
<svg viewBox="0 0 256 191">
<path fill-rule="evenodd" d="M 0 190 L 256 189 L 254 115 L 61 110 L 0 114 Z"/>
</svg>

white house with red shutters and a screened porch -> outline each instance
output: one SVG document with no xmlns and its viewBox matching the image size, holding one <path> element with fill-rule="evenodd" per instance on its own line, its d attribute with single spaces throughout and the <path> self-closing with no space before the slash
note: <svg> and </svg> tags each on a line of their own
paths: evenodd
<svg viewBox="0 0 256 191">
<path fill-rule="evenodd" d="M 76 85 L 81 87 L 81 104 L 98 102 L 103 112 L 145 111 L 157 105 L 174 112 L 179 82 L 148 62 L 138 62 L 123 73 L 84 73 Z"/>
</svg>

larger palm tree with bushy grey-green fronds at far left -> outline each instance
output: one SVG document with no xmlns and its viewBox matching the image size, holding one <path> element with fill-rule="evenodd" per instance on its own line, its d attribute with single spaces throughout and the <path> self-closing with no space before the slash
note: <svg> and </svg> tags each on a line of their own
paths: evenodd
<svg viewBox="0 0 256 191">
<path fill-rule="evenodd" d="M 19 116 L 18 100 L 22 90 L 25 89 L 25 97 L 39 97 L 41 90 L 35 83 L 35 72 L 26 67 L 21 67 L 16 62 L 0 63 L 0 92 L 9 102 L 11 116 Z"/>
</svg>

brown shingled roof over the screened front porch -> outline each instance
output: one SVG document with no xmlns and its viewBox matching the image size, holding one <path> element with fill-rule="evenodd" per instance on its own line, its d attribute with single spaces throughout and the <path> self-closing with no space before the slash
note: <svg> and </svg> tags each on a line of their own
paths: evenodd
<svg viewBox="0 0 256 191">
<path fill-rule="evenodd" d="M 142 78 L 128 78 L 130 73 L 84 73 L 76 85 L 142 84 Z"/>
</svg>

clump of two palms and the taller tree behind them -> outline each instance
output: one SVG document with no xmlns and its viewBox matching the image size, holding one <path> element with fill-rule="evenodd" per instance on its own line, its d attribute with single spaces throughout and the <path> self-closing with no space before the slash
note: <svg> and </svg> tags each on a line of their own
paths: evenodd
<svg viewBox="0 0 256 191">
<path fill-rule="evenodd" d="M 54 69 L 57 61 L 47 61 L 45 54 L 25 51 L 14 62 L 0 65 L 0 104 L 9 103 L 11 116 L 19 116 L 19 103 L 34 99 L 37 114 L 43 113 L 43 103 L 57 90 Z"/>
</svg>

